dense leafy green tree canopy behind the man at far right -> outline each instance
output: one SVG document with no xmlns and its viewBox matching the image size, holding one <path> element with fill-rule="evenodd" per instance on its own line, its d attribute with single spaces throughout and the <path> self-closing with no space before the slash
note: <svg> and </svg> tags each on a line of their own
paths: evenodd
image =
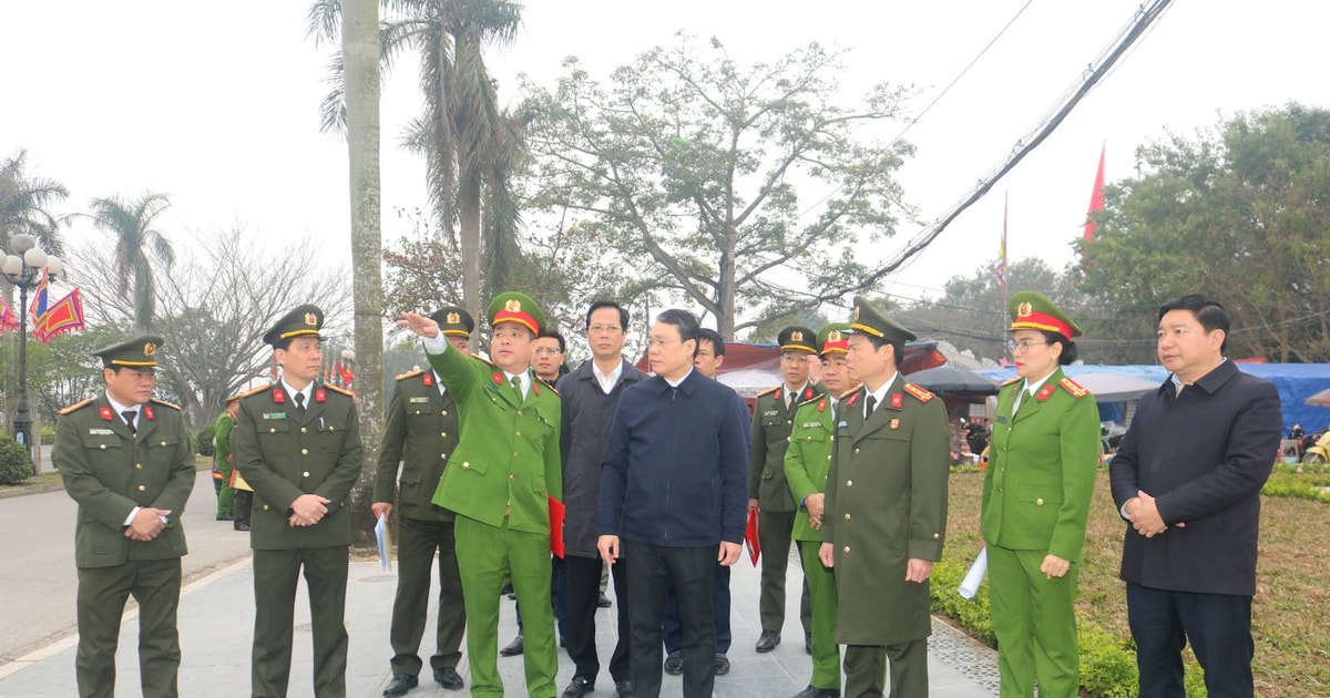
<svg viewBox="0 0 1330 698">
<path fill-rule="evenodd" d="M 1293 104 L 1141 146 L 1085 249 L 1083 289 L 1141 318 L 1136 332 L 1204 292 L 1233 314 L 1230 355 L 1330 360 L 1330 110 Z"/>
</svg>

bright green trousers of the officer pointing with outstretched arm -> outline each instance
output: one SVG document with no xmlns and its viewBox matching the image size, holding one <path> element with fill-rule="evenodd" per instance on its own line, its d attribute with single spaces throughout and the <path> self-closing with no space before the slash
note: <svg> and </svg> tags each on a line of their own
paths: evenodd
<svg viewBox="0 0 1330 698">
<path fill-rule="evenodd" d="M 503 695 L 499 678 L 499 597 L 504 578 L 512 576 L 523 610 L 523 653 L 527 693 L 532 698 L 555 697 L 555 610 L 549 605 L 549 533 L 524 533 L 481 524 L 458 515 L 458 568 L 467 606 L 467 653 L 471 655 L 471 695 Z"/>
</svg>

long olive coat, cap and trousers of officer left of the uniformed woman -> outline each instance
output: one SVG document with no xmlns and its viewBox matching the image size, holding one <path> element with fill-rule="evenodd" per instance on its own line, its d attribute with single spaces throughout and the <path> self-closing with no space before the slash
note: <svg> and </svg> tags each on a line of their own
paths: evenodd
<svg viewBox="0 0 1330 698">
<path fill-rule="evenodd" d="M 857 298 L 851 330 L 903 346 L 908 330 Z M 864 419 L 868 392 L 842 396 L 827 472 L 822 541 L 834 546 L 837 640 L 846 695 L 928 695 L 928 582 L 906 581 L 908 560 L 942 558 L 947 530 L 947 409 L 898 372 Z"/>
</svg>

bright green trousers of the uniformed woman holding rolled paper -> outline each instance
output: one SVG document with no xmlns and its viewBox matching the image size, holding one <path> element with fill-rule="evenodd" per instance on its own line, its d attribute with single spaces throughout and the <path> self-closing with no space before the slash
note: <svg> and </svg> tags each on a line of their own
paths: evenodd
<svg viewBox="0 0 1330 698">
<path fill-rule="evenodd" d="M 1045 578 L 1043 550 L 1008 550 L 988 545 L 988 605 L 998 637 L 998 670 L 1004 698 L 1080 695 L 1080 650 L 1076 645 L 1076 576 Z"/>
</svg>

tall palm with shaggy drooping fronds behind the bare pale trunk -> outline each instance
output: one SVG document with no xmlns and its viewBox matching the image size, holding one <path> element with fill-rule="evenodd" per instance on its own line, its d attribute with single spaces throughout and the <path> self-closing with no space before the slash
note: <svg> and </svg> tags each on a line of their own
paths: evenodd
<svg viewBox="0 0 1330 698">
<path fill-rule="evenodd" d="M 520 128 L 500 110 L 481 49 L 512 43 L 521 4 L 509 0 L 384 0 L 392 17 L 382 24 L 384 69 L 403 51 L 420 56 L 424 114 L 408 128 L 404 141 L 426 156 L 430 205 L 446 235 L 459 231 L 463 257 L 463 302 L 480 310 L 481 250 L 493 263 L 516 250 L 516 209 L 508 182 L 521 153 Z M 338 0 L 317 0 L 310 33 L 336 35 Z M 325 100 L 323 125 L 344 121 L 340 57 L 334 58 L 334 90 Z M 515 141 L 516 138 L 516 141 Z M 505 211 L 504 207 L 508 207 Z M 456 227 L 455 227 L 456 226 Z M 485 237 L 481 239 L 481 231 Z M 495 235 L 495 237 L 491 237 Z M 493 266 L 493 263 L 491 266 Z"/>
</svg>

